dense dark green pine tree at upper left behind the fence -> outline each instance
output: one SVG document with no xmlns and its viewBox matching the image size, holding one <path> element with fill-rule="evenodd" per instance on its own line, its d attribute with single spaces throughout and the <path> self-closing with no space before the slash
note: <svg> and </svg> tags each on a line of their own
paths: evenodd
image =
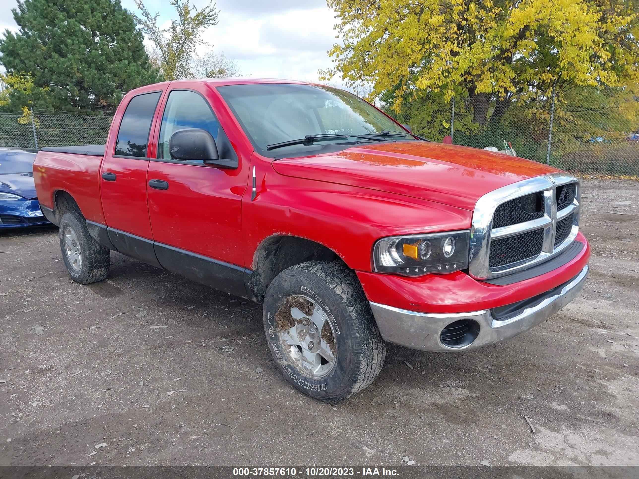
<svg viewBox="0 0 639 479">
<path fill-rule="evenodd" d="M 24 0 L 12 11 L 20 30 L 4 32 L 0 62 L 31 75 L 35 108 L 113 110 L 128 90 L 160 81 L 119 0 Z"/>
</svg>

